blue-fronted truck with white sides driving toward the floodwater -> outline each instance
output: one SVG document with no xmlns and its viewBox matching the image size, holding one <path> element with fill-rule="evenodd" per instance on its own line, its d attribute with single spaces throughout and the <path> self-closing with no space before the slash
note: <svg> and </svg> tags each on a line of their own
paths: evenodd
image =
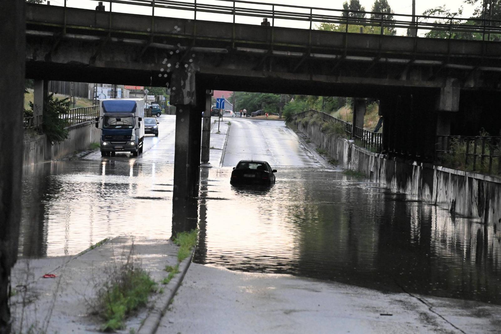
<svg viewBox="0 0 501 334">
<path fill-rule="evenodd" d="M 104 99 L 100 102 L 96 128 L 101 132 L 101 156 L 115 152 L 131 152 L 137 157 L 143 152 L 144 100 Z"/>
</svg>

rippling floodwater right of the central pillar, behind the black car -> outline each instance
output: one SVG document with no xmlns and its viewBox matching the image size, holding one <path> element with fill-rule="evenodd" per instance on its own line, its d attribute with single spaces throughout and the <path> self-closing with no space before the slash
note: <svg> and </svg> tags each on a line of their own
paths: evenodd
<svg viewBox="0 0 501 334">
<path fill-rule="evenodd" d="M 340 173 L 281 171 L 267 189 L 211 189 L 195 262 L 501 303 L 499 234 Z M 278 176 L 278 175 L 277 175 Z"/>
</svg>

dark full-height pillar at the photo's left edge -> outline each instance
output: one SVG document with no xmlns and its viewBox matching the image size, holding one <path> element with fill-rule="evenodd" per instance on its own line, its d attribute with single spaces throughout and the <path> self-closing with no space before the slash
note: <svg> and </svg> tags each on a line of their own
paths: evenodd
<svg viewBox="0 0 501 334">
<path fill-rule="evenodd" d="M 0 333 L 11 331 L 9 284 L 18 256 L 23 165 L 25 2 L 0 2 Z"/>
</svg>

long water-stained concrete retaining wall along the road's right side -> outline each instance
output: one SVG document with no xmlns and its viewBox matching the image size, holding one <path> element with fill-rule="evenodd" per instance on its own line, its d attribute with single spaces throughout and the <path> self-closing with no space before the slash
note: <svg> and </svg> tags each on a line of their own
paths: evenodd
<svg viewBox="0 0 501 334">
<path fill-rule="evenodd" d="M 373 182 L 476 221 L 501 223 L 501 177 L 390 158 L 326 135 L 319 125 L 295 125 L 344 168 L 363 172 Z"/>
</svg>

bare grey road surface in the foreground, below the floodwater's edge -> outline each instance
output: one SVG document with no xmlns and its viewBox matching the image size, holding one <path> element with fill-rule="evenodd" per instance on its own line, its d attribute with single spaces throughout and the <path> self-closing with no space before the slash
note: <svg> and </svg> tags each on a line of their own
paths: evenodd
<svg viewBox="0 0 501 334">
<path fill-rule="evenodd" d="M 165 333 L 499 333 L 501 306 L 192 263 Z"/>
</svg>

